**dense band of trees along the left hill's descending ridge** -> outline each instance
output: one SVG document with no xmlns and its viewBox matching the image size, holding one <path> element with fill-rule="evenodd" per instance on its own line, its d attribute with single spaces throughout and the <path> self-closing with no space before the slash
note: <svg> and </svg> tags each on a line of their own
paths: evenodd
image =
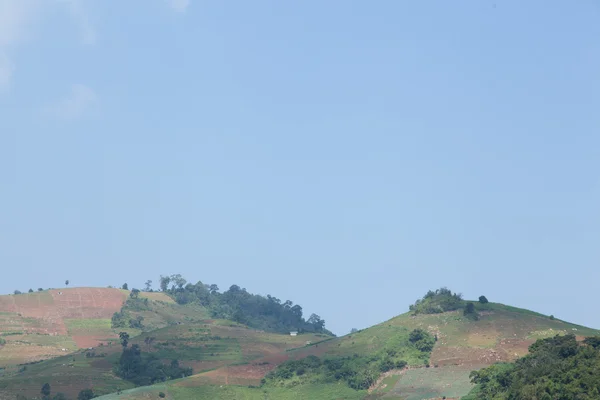
<svg viewBox="0 0 600 400">
<path fill-rule="evenodd" d="M 237 285 L 223 293 L 217 285 L 198 281 L 188 283 L 181 275 L 162 276 L 161 290 L 179 304 L 196 303 L 206 307 L 213 318 L 228 319 L 268 332 L 324 333 L 325 320 L 316 314 L 304 319 L 302 307 L 290 300 L 282 302 L 276 297 L 251 294 Z"/>
</svg>

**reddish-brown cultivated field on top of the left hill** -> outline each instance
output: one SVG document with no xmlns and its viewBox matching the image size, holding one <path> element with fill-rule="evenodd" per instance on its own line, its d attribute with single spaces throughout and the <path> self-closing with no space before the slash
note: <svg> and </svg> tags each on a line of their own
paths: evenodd
<svg viewBox="0 0 600 400">
<path fill-rule="evenodd" d="M 110 318 L 126 294 L 119 289 L 71 288 L 0 296 L 0 367 L 36 362 L 97 346 L 117 335 Z"/>
</svg>

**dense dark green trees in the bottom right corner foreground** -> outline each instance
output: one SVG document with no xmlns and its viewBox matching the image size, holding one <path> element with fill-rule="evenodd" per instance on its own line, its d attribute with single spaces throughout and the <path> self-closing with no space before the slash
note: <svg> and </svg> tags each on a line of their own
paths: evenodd
<svg viewBox="0 0 600 400">
<path fill-rule="evenodd" d="M 471 400 L 598 399 L 600 337 L 578 343 L 574 335 L 540 339 L 514 364 L 496 364 L 471 373 L 477 387 Z"/>
</svg>

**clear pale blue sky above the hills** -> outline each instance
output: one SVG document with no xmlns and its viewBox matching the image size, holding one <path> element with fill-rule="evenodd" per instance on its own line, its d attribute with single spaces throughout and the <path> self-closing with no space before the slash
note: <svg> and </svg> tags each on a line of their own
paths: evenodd
<svg viewBox="0 0 600 400">
<path fill-rule="evenodd" d="M 346 333 L 600 328 L 600 5 L 0 0 L 0 292 L 160 274 Z"/>
</svg>

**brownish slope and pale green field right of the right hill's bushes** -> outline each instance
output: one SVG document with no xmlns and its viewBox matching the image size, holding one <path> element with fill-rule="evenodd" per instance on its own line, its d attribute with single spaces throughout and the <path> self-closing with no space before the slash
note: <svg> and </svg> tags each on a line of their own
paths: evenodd
<svg viewBox="0 0 600 400">
<path fill-rule="evenodd" d="M 387 398 L 424 400 L 466 395 L 472 388 L 468 375 L 498 361 L 512 361 L 527 353 L 530 344 L 542 337 L 574 333 L 580 336 L 598 335 L 595 329 L 551 320 L 532 311 L 489 303 L 477 304 L 479 321 L 464 318 L 460 312 L 412 317 L 403 314 L 388 321 L 390 325 L 409 326 L 435 332 L 439 340 L 431 356 L 431 365 L 439 368 L 408 371 Z"/>
</svg>

